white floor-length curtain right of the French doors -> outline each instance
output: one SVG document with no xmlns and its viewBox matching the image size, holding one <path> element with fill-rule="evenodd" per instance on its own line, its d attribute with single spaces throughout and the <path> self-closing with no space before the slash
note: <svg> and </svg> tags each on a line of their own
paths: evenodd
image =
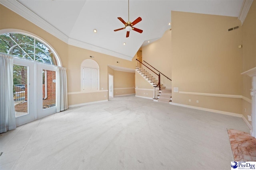
<svg viewBox="0 0 256 170">
<path fill-rule="evenodd" d="M 57 112 L 68 109 L 68 88 L 66 68 L 58 67 L 57 70 Z"/>
</svg>

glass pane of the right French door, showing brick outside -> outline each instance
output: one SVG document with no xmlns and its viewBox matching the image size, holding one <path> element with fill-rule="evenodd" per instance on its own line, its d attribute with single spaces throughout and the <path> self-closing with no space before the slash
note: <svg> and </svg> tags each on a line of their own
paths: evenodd
<svg viewBox="0 0 256 170">
<path fill-rule="evenodd" d="M 43 109 L 56 106 L 56 71 L 42 71 Z"/>
</svg>

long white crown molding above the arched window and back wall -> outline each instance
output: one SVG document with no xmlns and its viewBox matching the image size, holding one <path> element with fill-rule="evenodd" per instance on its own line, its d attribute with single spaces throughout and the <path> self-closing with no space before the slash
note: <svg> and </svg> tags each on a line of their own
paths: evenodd
<svg viewBox="0 0 256 170">
<path fill-rule="evenodd" d="M 133 57 L 130 57 L 128 55 L 117 53 L 117 52 L 114 52 L 114 51 L 111 51 L 111 50 L 108 50 L 108 49 L 104 49 L 102 47 L 98 47 L 98 46 L 95 46 L 95 45 L 92 45 L 92 44 L 84 43 L 82 41 L 78 41 L 78 40 L 69 38 L 67 35 L 65 35 L 61 31 L 59 31 L 58 29 L 56 29 L 52 25 L 50 25 L 48 22 L 46 22 L 45 20 L 40 18 L 38 15 L 36 15 L 34 12 L 29 10 L 28 8 L 26 8 L 25 6 L 23 6 L 22 4 L 20 4 L 16 0 L 0 0 L 0 4 L 2 4 L 3 6 L 5 6 L 6 8 L 8 8 L 10 10 L 12 10 L 16 14 L 22 16 L 26 20 L 34 23 L 38 27 L 44 29 L 45 31 L 47 31 L 48 33 L 57 37 L 61 41 L 64 41 L 68 45 L 74 45 L 76 47 L 80 47 L 80 48 L 83 48 L 83 49 L 88 49 L 88 50 L 91 50 L 91 51 L 96 51 L 98 53 L 103 53 L 103 54 L 111 55 L 111 56 L 114 56 L 114 57 L 117 57 L 117 58 L 120 58 L 120 59 L 125 59 L 125 60 L 128 60 L 128 61 L 132 61 Z"/>
</svg>

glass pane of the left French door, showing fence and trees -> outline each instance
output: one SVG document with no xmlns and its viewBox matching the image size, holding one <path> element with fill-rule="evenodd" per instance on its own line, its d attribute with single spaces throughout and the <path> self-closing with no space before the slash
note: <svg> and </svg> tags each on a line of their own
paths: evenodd
<svg viewBox="0 0 256 170">
<path fill-rule="evenodd" d="M 28 114 L 28 67 L 13 65 L 15 117 Z"/>
</svg>

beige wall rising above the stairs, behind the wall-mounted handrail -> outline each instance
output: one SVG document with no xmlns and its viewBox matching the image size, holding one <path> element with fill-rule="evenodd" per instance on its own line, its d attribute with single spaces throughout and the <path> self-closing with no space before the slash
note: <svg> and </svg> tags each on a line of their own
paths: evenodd
<svg viewBox="0 0 256 170">
<path fill-rule="evenodd" d="M 146 61 L 148 64 L 152 65 L 162 74 L 166 75 L 168 78 L 172 79 L 172 67 L 171 67 L 171 36 L 172 31 L 169 29 L 164 33 L 164 35 L 142 47 L 142 60 Z M 146 64 L 143 62 L 143 64 Z M 148 64 L 146 64 L 148 66 Z M 151 68 L 149 66 L 149 68 Z M 155 70 L 154 70 L 155 71 Z M 166 87 L 172 86 L 172 82 L 161 75 L 161 84 Z"/>
</svg>

